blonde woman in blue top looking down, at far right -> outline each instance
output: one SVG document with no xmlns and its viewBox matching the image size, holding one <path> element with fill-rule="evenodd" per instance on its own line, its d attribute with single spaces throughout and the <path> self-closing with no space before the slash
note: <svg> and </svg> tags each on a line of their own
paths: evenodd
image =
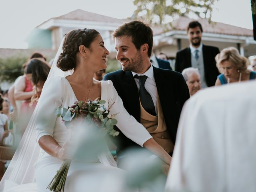
<svg viewBox="0 0 256 192">
<path fill-rule="evenodd" d="M 241 56 L 234 47 L 224 48 L 216 55 L 215 60 L 218 70 L 222 73 L 218 76 L 215 86 L 256 78 L 256 72 L 247 69 L 248 59 Z"/>
</svg>

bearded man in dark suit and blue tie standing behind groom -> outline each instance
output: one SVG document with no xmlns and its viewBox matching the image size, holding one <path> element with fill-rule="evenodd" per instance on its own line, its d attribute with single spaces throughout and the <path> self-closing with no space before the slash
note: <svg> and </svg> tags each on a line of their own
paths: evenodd
<svg viewBox="0 0 256 192">
<path fill-rule="evenodd" d="M 176 54 L 175 71 L 182 72 L 185 68 L 198 68 L 202 88 L 214 86 L 219 74 L 214 57 L 220 52 L 217 47 L 204 45 L 201 42 L 202 25 L 198 21 L 188 24 L 187 35 L 189 47 Z"/>
</svg>

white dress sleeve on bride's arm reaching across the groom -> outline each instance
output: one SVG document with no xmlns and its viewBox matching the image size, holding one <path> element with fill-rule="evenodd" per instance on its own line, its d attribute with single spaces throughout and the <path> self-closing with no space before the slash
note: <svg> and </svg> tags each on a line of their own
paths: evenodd
<svg viewBox="0 0 256 192">
<path fill-rule="evenodd" d="M 138 123 L 136 119 L 126 111 L 122 99 L 118 96 L 116 89 L 110 80 L 108 80 L 108 104 L 111 106 L 110 114 L 117 114 L 115 116 L 118 121 L 116 126 L 126 137 L 140 146 L 143 146 L 144 142 L 152 138 L 146 128 Z"/>
</svg>

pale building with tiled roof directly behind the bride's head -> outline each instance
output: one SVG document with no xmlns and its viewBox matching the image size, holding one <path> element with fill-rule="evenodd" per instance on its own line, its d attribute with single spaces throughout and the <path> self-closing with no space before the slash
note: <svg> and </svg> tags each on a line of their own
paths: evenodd
<svg viewBox="0 0 256 192">
<path fill-rule="evenodd" d="M 106 48 L 112 53 L 110 56 L 114 56 L 114 41 L 111 34 L 118 26 L 127 21 L 77 9 L 59 17 L 50 18 L 37 28 L 51 31 L 53 50 L 59 47 L 64 35 L 72 29 L 96 29 L 102 35 Z"/>
</svg>

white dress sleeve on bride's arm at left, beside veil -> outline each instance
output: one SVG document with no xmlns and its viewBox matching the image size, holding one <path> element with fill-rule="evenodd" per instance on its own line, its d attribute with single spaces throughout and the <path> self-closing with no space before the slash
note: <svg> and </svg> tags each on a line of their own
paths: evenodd
<svg viewBox="0 0 256 192">
<path fill-rule="evenodd" d="M 36 118 L 36 141 L 44 136 L 53 136 L 57 116 L 54 111 L 62 105 L 65 86 L 61 77 L 52 77 L 44 85 L 38 102 L 38 117 Z"/>
</svg>

